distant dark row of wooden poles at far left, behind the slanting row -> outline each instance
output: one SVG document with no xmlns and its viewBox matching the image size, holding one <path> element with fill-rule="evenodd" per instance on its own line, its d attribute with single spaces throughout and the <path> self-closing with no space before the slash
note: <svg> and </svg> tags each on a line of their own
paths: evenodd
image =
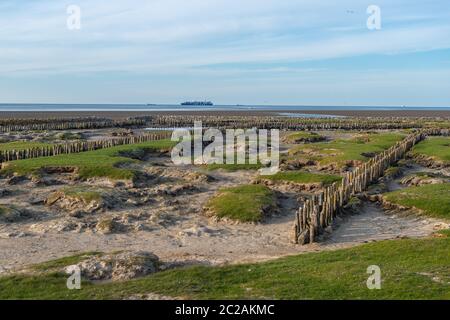
<svg viewBox="0 0 450 320">
<path fill-rule="evenodd" d="M 145 118 L 111 120 L 105 118 L 61 118 L 61 119 L 3 119 L 0 120 L 0 132 L 33 130 L 77 130 L 145 126 Z"/>
</svg>

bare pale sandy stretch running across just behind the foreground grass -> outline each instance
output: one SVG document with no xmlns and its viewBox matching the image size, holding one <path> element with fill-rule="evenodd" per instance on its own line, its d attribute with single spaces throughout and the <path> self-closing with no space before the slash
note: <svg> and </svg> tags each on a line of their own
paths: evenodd
<svg viewBox="0 0 450 320">
<path fill-rule="evenodd" d="M 46 233 L 32 237 L 0 239 L 0 272 L 83 251 L 147 250 L 164 261 L 223 264 L 254 262 L 310 251 L 333 250 L 368 241 L 399 237 L 425 237 L 442 225 L 437 220 L 386 215 L 376 204 L 342 219 L 322 243 L 298 246 L 290 242 L 292 214 L 265 224 L 226 225 L 198 216 L 153 232 L 99 235 Z"/>
</svg>

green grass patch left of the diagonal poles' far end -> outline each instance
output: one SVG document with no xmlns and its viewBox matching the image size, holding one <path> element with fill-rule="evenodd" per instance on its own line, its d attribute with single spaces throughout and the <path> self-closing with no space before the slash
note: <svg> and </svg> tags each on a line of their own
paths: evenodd
<svg viewBox="0 0 450 320">
<path fill-rule="evenodd" d="M 370 157 L 364 156 L 364 153 L 382 152 L 404 137 L 401 133 L 370 133 L 352 139 L 300 145 L 289 151 L 289 157 L 304 157 L 321 165 L 336 163 L 342 166 L 349 160 L 367 161 Z"/>
</svg>

